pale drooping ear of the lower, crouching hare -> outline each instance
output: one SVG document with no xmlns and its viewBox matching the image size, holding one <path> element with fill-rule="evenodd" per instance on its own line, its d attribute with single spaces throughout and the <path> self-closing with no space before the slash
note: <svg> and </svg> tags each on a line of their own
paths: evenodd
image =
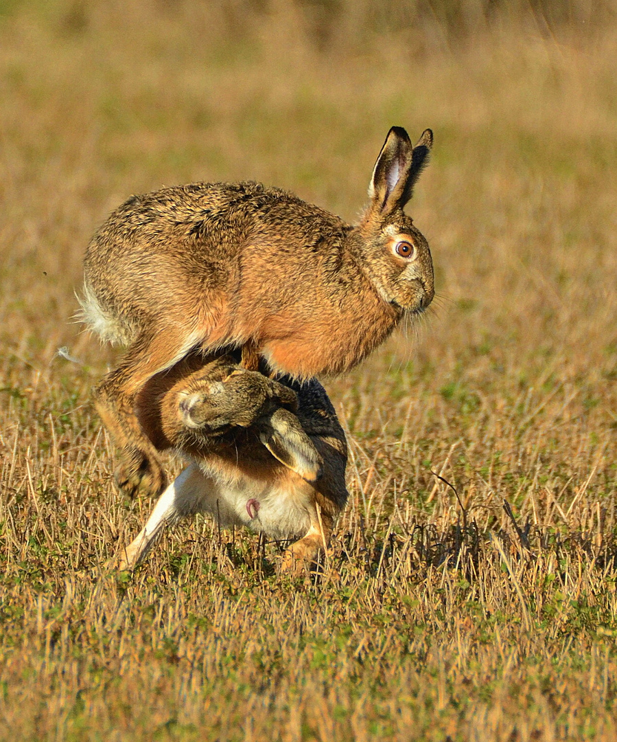
<svg viewBox="0 0 617 742">
<path fill-rule="evenodd" d="M 282 408 L 275 410 L 260 433 L 260 440 L 275 459 L 307 482 L 320 478 L 321 456 L 293 413 Z"/>
</svg>

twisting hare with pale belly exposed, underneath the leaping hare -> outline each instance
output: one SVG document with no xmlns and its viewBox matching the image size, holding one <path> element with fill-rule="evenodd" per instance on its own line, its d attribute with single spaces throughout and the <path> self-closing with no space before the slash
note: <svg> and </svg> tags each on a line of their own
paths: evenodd
<svg viewBox="0 0 617 742">
<path fill-rule="evenodd" d="M 345 435 L 329 398 L 315 380 L 281 384 L 229 355 L 196 371 L 202 359 L 192 360 L 159 378 L 156 413 L 144 418 L 159 450 L 173 448 L 191 464 L 159 498 L 119 566 L 138 565 L 167 525 L 208 512 L 221 525 L 299 539 L 282 563 L 298 573 L 326 546 L 347 500 Z"/>
</svg>

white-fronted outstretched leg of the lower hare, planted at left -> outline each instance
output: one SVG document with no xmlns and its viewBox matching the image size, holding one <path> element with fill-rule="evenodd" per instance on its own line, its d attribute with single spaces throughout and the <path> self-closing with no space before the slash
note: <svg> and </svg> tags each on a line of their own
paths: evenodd
<svg viewBox="0 0 617 742">
<path fill-rule="evenodd" d="M 176 476 L 159 497 L 145 526 L 121 553 L 118 568 L 131 570 L 142 562 L 168 525 L 202 510 L 202 493 L 208 482 L 196 464 Z"/>
</svg>

